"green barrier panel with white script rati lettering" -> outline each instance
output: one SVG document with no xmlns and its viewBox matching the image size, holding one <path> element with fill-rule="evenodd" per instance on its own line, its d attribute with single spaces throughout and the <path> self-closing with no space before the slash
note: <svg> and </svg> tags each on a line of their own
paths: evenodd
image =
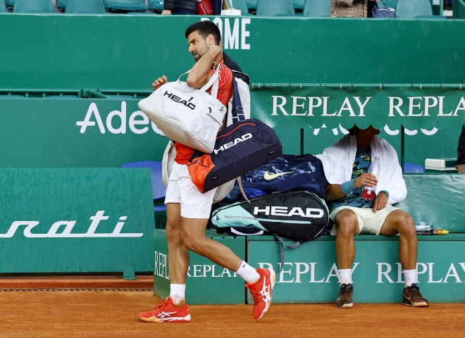
<svg viewBox="0 0 465 338">
<path fill-rule="evenodd" d="M 0 272 L 153 271 L 148 169 L 0 169 Z"/>
</svg>

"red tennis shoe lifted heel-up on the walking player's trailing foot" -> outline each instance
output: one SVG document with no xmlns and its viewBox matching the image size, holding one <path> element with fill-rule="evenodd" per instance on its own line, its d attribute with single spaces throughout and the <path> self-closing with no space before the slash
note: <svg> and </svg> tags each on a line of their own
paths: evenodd
<svg viewBox="0 0 465 338">
<path fill-rule="evenodd" d="M 268 311 L 271 304 L 271 290 L 275 286 L 276 274 L 273 269 L 256 269 L 260 279 L 253 284 L 245 284 L 254 298 L 254 318 L 259 320 Z"/>
</svg>

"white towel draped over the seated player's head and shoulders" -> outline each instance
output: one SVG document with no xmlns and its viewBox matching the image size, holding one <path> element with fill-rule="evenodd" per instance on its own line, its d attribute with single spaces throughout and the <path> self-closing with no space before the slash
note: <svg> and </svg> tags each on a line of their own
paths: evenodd
<svg viewBox="0 0 465 338">
<path fill-rule="evenodd" d="M 385 139 L 373 136 L 371 139 L 371 160 L 380 158 L 380 174 L 376 194 L 385 190 L 389 193 L 387 204 L 395 204 L 405 199 L 407 187 L 397 152 Z M 342 184 L 352 180 L 352 167 L 356 156 L 356 137 L 345 135 L 335 144 L 326 148 L 323 154 L 316 155 L 323 163 L 326 179 L 330 184 Z"/>
</svg>

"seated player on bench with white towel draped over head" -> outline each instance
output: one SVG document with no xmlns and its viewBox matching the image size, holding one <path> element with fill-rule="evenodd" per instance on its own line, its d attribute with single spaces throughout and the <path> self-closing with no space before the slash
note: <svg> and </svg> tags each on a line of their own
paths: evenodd
<svg viewBox="0 0 465 338">
<path fill-rule="evenodd" d="M 351 269 L 356 234 L 399 234 L 399 260 L 406 284 L 403 303 L 428 306 L 415 284 L 418 240 L 414 221 L 408 213 L 392 206 L 407 196 L 402 169 L 395 149 L 378 137 L 379 133 L 371 126 L 366 130 L 354 126 L 349 134 L 316 156 L 323 163 L 328 179 L 326 199 L 332 202 L 330 218 L 334 221 L 331 234 L 337 235 L 336 256 L 341 277 L 337 308 L 352 308 Z M 368 173 L 371 159 L 376 156 L 380 161 L 379 177 Z M 364 187 L 376 187 L 376 197 L 371 201 L 363 198 Z"/>
</svg>

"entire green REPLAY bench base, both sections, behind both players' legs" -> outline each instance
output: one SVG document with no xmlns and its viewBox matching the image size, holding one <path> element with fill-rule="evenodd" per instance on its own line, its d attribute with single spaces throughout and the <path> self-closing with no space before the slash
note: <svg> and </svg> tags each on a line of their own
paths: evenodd
<svg viewBox="0 0 465 338">
<path fill-rule="evenodd" d="M 285 249 L 281 270 L 280 246 L 273 236 L 229 237 L 213 234 L 216 240 L 240 252 L 247 244 L 246 261 L 254 267 L 273 268 L 276 284 L 273 303 L 335 303 L 340 287 L 335 236 L 321 236 L 296 249 Z M 244 241 L 245 239 L 245 241 Z M 420 236 L 417 267 L 418 285 L 432 303 L 465 301 L 464 234 Z M 240 244 L 241 242 L 242 244 Z M 287 245 L 293 242 L 285 242 Z M 154 294 L 166 298 L 170 292 L 166 263 L 166 236 L 155 234 Z M 399 237 L 361 235 L 355 238 L 356 257 L 352 267 L 354 303 L 401 303 L 405 287 L 399 263 Z M 242 256 L 240 256 L 242 257 Z M 186 301 L 190 304 L 236 304 L 244 302 L 244 281 L 234 273 L 212 273 L 213 263 L 190 255 Z M 196 270 L 194 275 L 192 271 Z M 247 303 L 253 303 L 247 293 Z"/>
</svg>

